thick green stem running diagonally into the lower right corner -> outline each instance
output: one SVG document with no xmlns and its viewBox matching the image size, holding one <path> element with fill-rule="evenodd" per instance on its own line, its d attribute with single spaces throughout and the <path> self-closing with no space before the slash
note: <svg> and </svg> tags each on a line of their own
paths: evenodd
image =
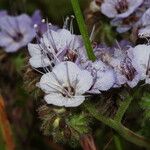
<svg viewBox="0 0 150 150">
<path fill-rule="evenodd" d="M 118 132 L 123 138 L 125 138 L 127 141 L 134 143 L 138 146 L 149 148 L 150 149 L 150 140 L 144 138 L 143 136 L 140 136 L 130 129 L 123 126 L 121 123 L 118 123 L 116 120 L 107 118 L 103 115 L 101 115 L 95 107 L 93 107 L 91 104 L 86 103 L 85 109 L 89 111 L 89 113 L 98 121 L 104 123 L 105 125 L 109 126 L 110 128 L 113 128 L 116 132 Z"/>
</svg>

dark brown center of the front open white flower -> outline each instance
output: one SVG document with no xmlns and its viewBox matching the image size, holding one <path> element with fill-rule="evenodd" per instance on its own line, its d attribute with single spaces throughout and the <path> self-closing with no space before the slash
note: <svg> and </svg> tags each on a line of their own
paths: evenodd
<svg viewBox="0 0 150 150">
<path fill-rule="evenodd" d="M 62 95 L 63 95 L 64 97 L 71 98 L 72 96 L 75 95 L 75 89 L 74 89 L 72 86 L 64 87 L 64 88 L 63 88 Z"/>
</svg>

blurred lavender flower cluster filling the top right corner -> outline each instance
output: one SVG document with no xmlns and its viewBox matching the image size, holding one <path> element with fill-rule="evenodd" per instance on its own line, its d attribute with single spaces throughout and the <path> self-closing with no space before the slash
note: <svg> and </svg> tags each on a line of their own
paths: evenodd
<svg viewBox="0 0 150 150">
<path fill-rule="evenodd" d="M 149 0 L 104 0 L 100 11 L 111 19 L 111 25 L 117 27 L 117 32 L 137 29 L 141 35 L 149 30 L 149 7 Z"/>
</svg>

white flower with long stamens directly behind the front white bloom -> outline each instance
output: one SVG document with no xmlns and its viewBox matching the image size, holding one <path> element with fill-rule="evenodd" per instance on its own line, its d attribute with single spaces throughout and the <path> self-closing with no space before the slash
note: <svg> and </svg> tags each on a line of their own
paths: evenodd
<svg viewBox="0 0 150 150">
<path fill-rule="evenodd" d="M 80 36 L 71 34 L 66 29 L 56 31 L 49 29 L 40 39 L 39 44 L 28 44 L 28 50 L 31 55 L 30 65 L 35 68 L 46 67 L 51 63 L 58 63 L 69 60 L 66 58 L 71 55 L 74 59 L 76 51 L 82 47 Z M 71 53 L 71 54 L 70 54 Z"/>
</svg>

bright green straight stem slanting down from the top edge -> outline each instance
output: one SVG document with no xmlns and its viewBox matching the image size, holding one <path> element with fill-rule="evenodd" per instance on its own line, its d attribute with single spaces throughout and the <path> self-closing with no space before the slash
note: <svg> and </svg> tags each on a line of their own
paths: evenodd
<svg viewBox="0 0 150 150">
<path fill-rule="evenodd" d="M 94 55 L 93 48 L 91 46 L 87 27 L 85 25 L 84 18 L 83 18 L 81 9 L 80 9 L 79 1 L 78 0 L 71 0 L 71 3 L 72 3 L 72 7 L 74 10 L 76 19 L 77 19 L 77 23 L 78 23 L 81 35 L 83 37 L 83 41 L 84 41 L 84 45 L 85 45 L 85 48 L 87 51 L 88 58 L 92 61 L 95 61 L 96 57 Z"/>
</svg>

